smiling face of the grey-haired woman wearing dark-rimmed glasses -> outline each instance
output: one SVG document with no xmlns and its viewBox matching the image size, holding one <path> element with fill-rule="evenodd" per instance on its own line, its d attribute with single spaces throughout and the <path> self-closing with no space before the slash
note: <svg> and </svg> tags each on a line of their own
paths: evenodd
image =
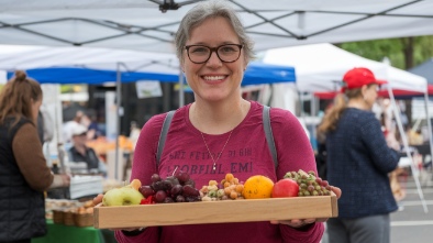
<svg viewBox="0 0 433 243">
<path fill-rule="evenodd" d="M 232 25 L 224 18 L 211 18 L 193 27 L 186 45 L 218 47 L 224 44 L 241 44 Z M 191 52 L 191 51 L 190 51 Z M 241 81 L 246 68 L 244 52 L 233 63 L 223 63 L 215 52 L 203 64 L 195 64 L 185 49 L 182 70 L 188 85 L 196 93 L 196 100 L 219 101 L 241 97 Z"/>
</svg>

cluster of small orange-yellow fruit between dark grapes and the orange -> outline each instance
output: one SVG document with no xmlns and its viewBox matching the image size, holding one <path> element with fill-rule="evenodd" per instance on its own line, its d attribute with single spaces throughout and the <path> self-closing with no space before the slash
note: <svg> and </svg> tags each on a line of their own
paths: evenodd
<svg viewBox="0 0 433 243">
<path fill-rule="evenodd" d="M 220 187 L 216 180 L 209 180 L 209 185 L 200 189 L 200 196 L 202 201 L 244 199 L 242 196 L 243 190 L 244 185 L 233 174 L 229 173 L 221 180 Z"/>
</svg>

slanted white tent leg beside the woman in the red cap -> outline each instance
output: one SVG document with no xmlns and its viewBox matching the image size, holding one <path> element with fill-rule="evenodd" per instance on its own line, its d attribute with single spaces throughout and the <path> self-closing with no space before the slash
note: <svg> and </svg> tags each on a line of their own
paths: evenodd
<svg viewBox="0 0 433 243">
<path fill-rule="evenodd" d="M 389 87 L 389 86 L 388 86 L 388 93 L 389 93 L 389 98 L 391 99 L 392 111 L 393 111 L 393 114 L 395 114 L 395 117 L 396 117 L 397 126 L 398 126 L 399 132 L 400 132 L 400 134 L 401 134 L 401 140 L 402 140 L 402 142 L 403 142 L 403 146 L 404 146 L 404 150 L 406 150 L 406 154 L 407 154 L 408 158 L 409 158 L 410 162 L 411 162 L 411 163 L 410 163 L 410 167 L 411 167 L 411 169 L 412 169 L 413 179 L 415 180 L 418 195 L 420 196 L 421 203 L 422 203 L 422 207 L 423 207 L 423 209 L 424 209 L 424 212 L 428 213 L 428 212 L 429 212 L 429 209 L 428 209 L 428 206 L 426 206 L 426 203 L 425 203 L 424 195 L 423 195 L 422 189 L 421 189 L 421 184 L 420 184 L 420 178 L 419 178 L 418 168 L 415 167 L 414 162 L 413 162 L 413 158 L 412 158 L 412 155 L 411 155 L 410 152 L 409 152 L 409 142 L 408 142 L 408 137 L 406 136 L 406 133 L 404 133 L 404 130 L 403 130 L 403 125 L 402 125 L 402 123 L 401 123 L 400 111 L 397 109 L 396 99 L 395 99 L 395 97 L 393 97 L 391 87 Z"/>
</svg>

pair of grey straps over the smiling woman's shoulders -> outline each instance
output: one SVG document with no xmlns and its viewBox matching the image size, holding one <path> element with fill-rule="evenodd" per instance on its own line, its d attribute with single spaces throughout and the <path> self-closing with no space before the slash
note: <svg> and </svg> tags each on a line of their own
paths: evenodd
<svg viewBox="0 0 433 243">
<path fill-rule="evenodd" d="M 268 147 L 269 147 L 270 154 L 273 156 L 275 168 L 277 168 L 278 167 L 278 157 L 277 157 L 277 150 L 275 147 L 273 128 L 270 126 L 269 111 L 270 111 L 269 107 L 267 107 L 267 106 L 263 107 L 263 126 L 265 130 L 266 141 L 268 143 Z M 174 114 L 175 114 L 175 111 L 169 111 L 164 120 L 163 129 L 160 130 L 158 147 L 156 151 L 156 163 L 157 164 L 159 164 L 160 155 L 164 150 L 165 141 L 166 141 L 167 133 L 170 128 L 170 123 L 171 123 L 171 119 L 173 119 Z"/>
</svg>

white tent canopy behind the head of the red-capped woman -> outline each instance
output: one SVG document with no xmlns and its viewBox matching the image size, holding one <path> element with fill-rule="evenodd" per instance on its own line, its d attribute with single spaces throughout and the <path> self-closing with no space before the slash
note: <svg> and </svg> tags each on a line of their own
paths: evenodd
<svg viewBox="0 0 433 243">
<path fill-rule="evenodd" d="M 391 89 L 426 92 L 428 87 L 424 77 L 357 56 L 329 43 L 269 49 L 265 52 L 263 62 L 295 67 L 299 91 L 340 90 L 344 74 L 354 67 L 371 69 L 378 79 L 387 80 Z"/>
</svg>

